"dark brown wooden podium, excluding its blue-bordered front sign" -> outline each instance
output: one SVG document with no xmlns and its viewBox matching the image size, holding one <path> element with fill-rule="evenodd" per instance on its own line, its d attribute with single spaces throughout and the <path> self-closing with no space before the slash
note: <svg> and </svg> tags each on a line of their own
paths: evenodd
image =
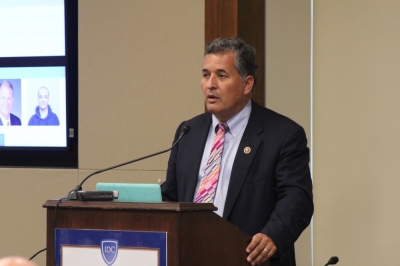
<svg viewBox="0 0 400 266">
<path fill-rule="evenodd" d="M 54 226 L 167 232 L 168 266 L 249 266 L 246 246 L 251 237 L 219 217 L 211 203 L 122 203 L 48 200 L 46 265 L 54 265 Z M 269 262 L 262 264 L 268 266 Z"/>
</svg>

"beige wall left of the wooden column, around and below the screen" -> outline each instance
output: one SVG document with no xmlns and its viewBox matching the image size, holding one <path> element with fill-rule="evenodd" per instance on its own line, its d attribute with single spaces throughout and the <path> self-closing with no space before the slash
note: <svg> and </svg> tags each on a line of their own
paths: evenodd
<svg viewBox="0 0 400 266">
<path fill-rule="evenodd" d="M 94 170 L 171 145 L 179 123 L 204 111 L 203 48 L 203 1 L 79 1 L 79 169 L 0 169 L 0 257 L 46 246 L 46 199 Z M 93 177 L 84 188 L 158 182 L 167 159 Z M 35 261 L 45 265 L 45 253 Z"/>
</svg>

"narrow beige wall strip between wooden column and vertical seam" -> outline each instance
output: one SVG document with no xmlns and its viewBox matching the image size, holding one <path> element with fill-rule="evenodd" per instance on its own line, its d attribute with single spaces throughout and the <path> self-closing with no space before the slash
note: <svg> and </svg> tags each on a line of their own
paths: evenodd
<svg viewBox="0 0 400 266">
<path fill-rule="evenodd" d="M 272 0 L 266 9 L 267 107 L 302 125 L 310 142 L 310 1 Z M 297 264 L 311 265 L 310 227 L 295 248 Z"/>
</svg>

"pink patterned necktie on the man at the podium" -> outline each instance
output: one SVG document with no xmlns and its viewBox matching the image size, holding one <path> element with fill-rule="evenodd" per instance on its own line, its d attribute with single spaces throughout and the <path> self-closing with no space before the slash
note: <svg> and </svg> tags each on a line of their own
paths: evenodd
<svg viewBox="0 0 400 266">
<path fill-rule="evenodd" d="M 218 185 L 219 171 L 221 168 L 222 152 L 224 150 L 225 131 L 228 128 L 226 123 L 219 123 L 218 132 L 211 148 L 210 157 L 207 161 L 205 178 L 201 181 L 195 202 L 214 202 L 215 192 Z"/>
</svg>

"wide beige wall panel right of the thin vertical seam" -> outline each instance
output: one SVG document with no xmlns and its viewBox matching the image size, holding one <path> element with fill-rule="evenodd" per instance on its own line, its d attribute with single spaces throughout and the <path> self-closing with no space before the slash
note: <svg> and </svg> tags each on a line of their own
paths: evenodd
<svg viewBox="0 0 400 266">
<path fill-rule="evenodd" d="M 397 265 L 400 1 L 314 1 L 315 265 Z"/>
</svg>

